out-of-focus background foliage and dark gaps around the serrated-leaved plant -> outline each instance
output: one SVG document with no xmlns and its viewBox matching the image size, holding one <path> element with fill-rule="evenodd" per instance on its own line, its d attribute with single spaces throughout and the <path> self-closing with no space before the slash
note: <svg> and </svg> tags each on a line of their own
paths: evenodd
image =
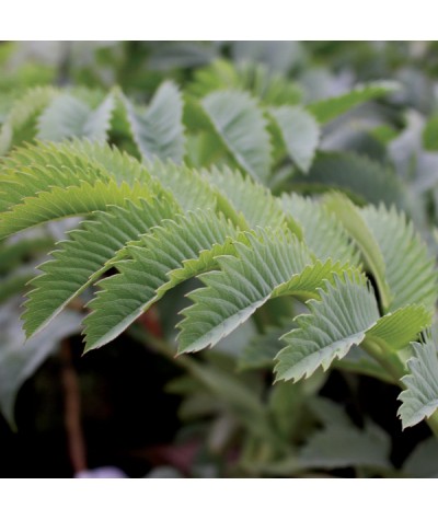
<svg viewBox="0 0 438 520">
<path fill-rule="evenodd" d="M 191 96 L 221 88 L 272 105 L 304 104 L 321 123 L 316 155 L 307 175 L 277 164 L 273 192 L 337 188 L 359 204 L 395 205 L 437 250 L 436 42 L 3 42 L 0 71 L 3 136 L 28 89 L 46 85 L 71 89 L 91 106 L 117 86 L 141 105 L 171 79 L 185 95 L 188 128 Z M 401 88 L 335 118 L 320 104 L 374 80 Z M 27 119 L 14 139 L 33 139 Z M 138 155 L 117 114 L 111 140 Z M 195 166 L 215 162 L 203 146 L 201 158 L 186 159 Z M 199 361 L 158 355 L 187 286 L 84 357 L 74 309 L 24 343 L 19 288 L 68 228 L 50 224 L 0 243 L 1 476 L 102 466 L 136 477 L 438 475 L 436 442 L 424 425 L 401 432 L 396 389 L 384 381 L 335 369 L 272 386 L 266 359 L 242 361 L 256 348 L 251 324 Z M 79 417 L 76 432 L 69 414 Z M 71 452 L 78 441 L 79 462 Z"/>
</svg>

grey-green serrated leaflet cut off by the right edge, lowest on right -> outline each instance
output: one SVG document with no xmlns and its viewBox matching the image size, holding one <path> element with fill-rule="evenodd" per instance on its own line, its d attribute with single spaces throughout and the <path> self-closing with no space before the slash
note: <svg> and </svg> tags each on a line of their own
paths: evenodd
<svg viewBox="0 0 438 520">
<path fill-rule="evenodd" d="M 407 361 L 410 373 L 402 378 L 406 386 L 399 398 L 403 429 L 415 426 L 438 408 L 438 351 L 430 334 L 423 343 L 413 343 L 414 356 Z"/>
</svg>

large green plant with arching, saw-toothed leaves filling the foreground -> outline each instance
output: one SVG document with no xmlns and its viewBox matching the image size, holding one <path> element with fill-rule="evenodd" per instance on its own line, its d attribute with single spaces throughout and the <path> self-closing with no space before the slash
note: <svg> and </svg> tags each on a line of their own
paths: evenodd
<svg viewBox="0 0 438 520">
<path fill-rule="evenodd" d="M 0 254 L 16 251 L 12 234 L 82 218 L 31 281 L 27 337 L 95 286 L 85 351 L 102 347 L 197 279 L 177 325 L 178 355 L 253 320 L 258 334 L 242 369 L 269 366 L 279 385 L 333 365 L 371 374 L 401 386 L 403 427 L 427 418 L 438 435 L 437 271 L 414 226 L 422 218 L 390 169 L 351 153 L 315 158 L 322 126 L 394 89 L 374 82 L 304 105 L 283 77 L 218 61 L 183 92 L 162 83 L 148 106 L 119 89 L 26 92 L 0 132 Z M 384 190 L 388 206 L 355 198 L 360 183 Z M 338 190 L 299 193 L 310 186 Z M 3 290 L 22 282 L 12 276 Z M 215 372 L 178 359 L 218 385 Z M 242 402 L 249 423 L 261 419 L 251 396 Z"/>
</svg>

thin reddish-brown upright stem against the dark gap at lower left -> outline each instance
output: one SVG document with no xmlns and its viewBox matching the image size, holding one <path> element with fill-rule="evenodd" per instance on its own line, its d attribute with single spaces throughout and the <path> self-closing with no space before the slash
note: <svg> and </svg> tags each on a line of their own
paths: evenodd
<svg viewBox="0 0 438 520">
<path fill-rule="evenodd" d="M 81 426 L 81 398 L 78 375 L 73 368 L 69 342 L 61 346 L 61 380 L 64 388 L 65 415 L 68 452 L 74 473 L 87 470 L 85 442 Z"/>
</svg>

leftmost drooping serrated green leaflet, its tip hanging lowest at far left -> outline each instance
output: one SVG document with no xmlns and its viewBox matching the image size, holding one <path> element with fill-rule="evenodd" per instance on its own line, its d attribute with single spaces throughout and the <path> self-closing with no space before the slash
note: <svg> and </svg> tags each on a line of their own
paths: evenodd
<svg viewBox="0 0 438 520">
<path fill-rule="evenodd" d="M 175 206 L 166 199 L 153 203 L 127 200 L 124 207 L 96 211 L 92 221 L 82 222 L 70 232 L 69 240 L 60 242 L 53 258 L 38 266 L 42 274 L 31 284 L 25 312 L 24 330 L 27 337 L 47 325 L 65 307 L 112 266 L 117 252 L 127 242 L 138 239 L 170 218 Z"/>
</svg>

